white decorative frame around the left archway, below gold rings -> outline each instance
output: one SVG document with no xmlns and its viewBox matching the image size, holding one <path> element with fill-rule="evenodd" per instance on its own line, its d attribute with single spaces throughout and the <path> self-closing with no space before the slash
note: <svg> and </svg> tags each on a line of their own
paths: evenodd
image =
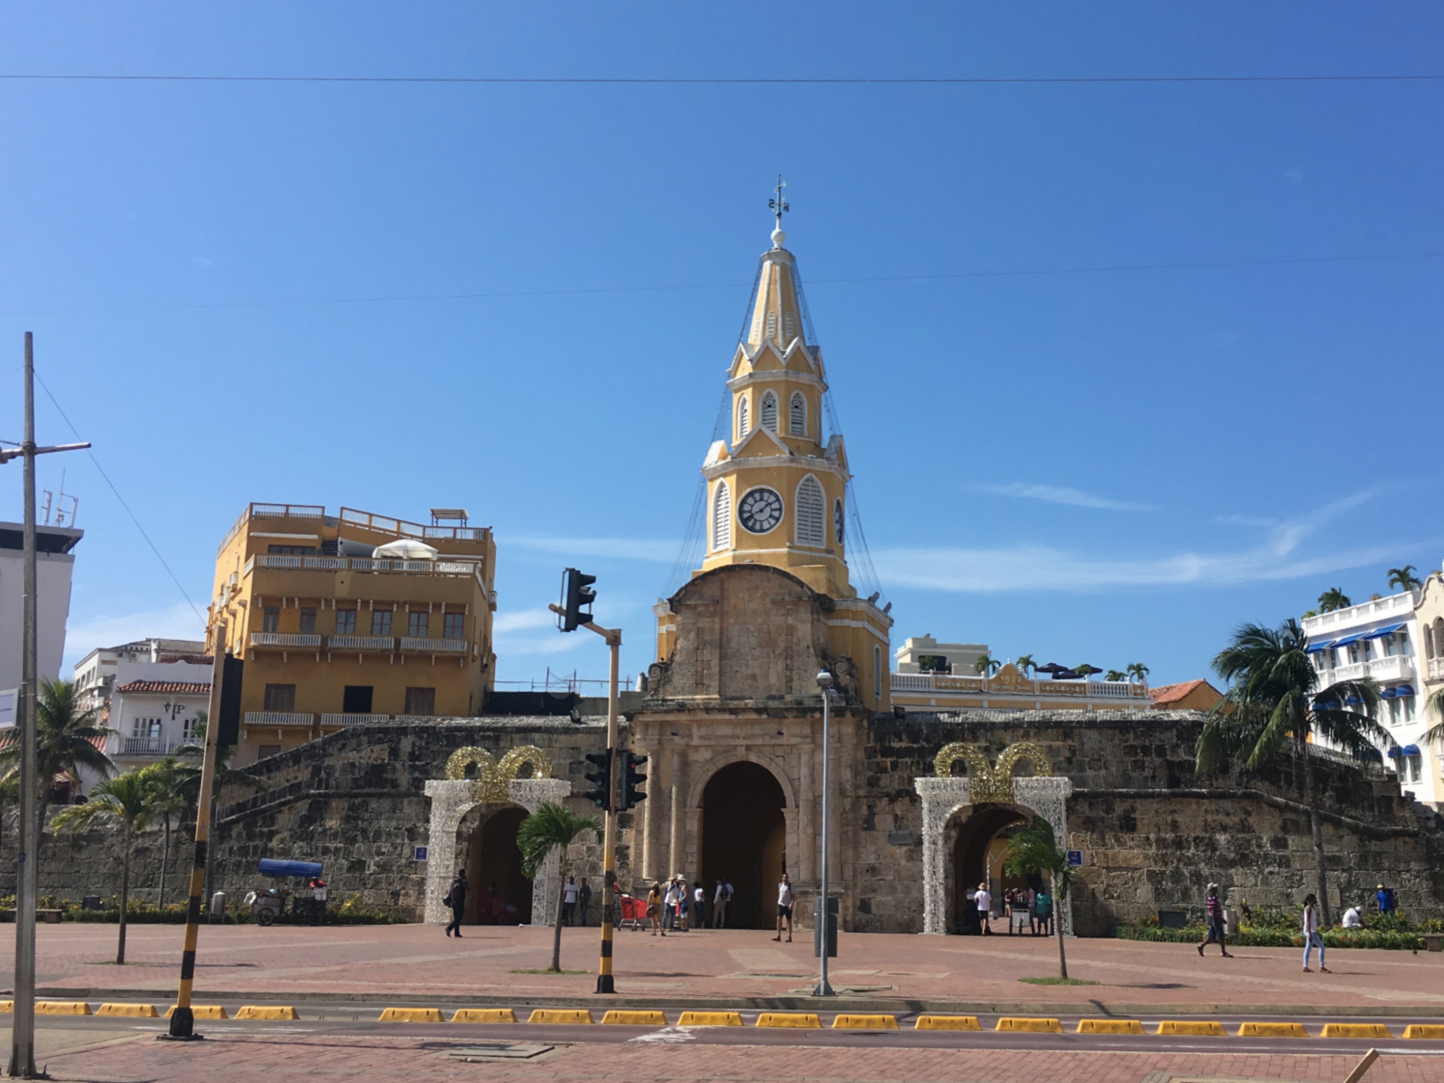
<svg viewBox="0 0 1444 1083">
<path fill-rule="evenodd" d="M 500 796 L 491 791 L 478 794 L 471 778 L 433 778 L 426 783 L 426 796 L 432 799 L 430 829 L 426 853 L 426 924 L 445 926 L 451 921 L 451 910 L 442 905 L 452 877 L 465 861 L 456 852 L 456 835 L 462 817 L 472 809 L 494 803 Z M 521 806 L 529 813 L 536 812 L 543 801 L 563 801 L 572 794 L 572 784 L 565 778 L 513 778 L 505 783 L 505 801 Z M 492 800 L 478 800 L 478 797 Z M 550 926 L 556 918 L 559 856 L 546 859 L 531 881 L 531 924 Z M 477 885 L 472 885 L 474 890 Z"/>
</svg>

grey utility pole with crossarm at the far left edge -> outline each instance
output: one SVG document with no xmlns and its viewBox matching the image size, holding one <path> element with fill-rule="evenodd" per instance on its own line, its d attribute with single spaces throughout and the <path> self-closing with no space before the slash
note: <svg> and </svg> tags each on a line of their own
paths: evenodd
<svg viewBox="0 0 1444 1083">
<path fill-rule="evenodd" d="M 35 748 L 36 585 L 35 585 L 35 456 L 58 451 L 79 451 L 88 443 L 35 446 L 35 335 L 25 332 L 25 440 L 19 451 L 0 451 L 0 464 L 25 459 L 25 604 L 20 632 L 20 846 L 16 853 L 14 900 L 14 1022 L 10 1031 L 10 1076 L 38 1079 L 35 1070 L 35 851 L 40 838 L 45 806 L 38 801 Z"/>
</svg>

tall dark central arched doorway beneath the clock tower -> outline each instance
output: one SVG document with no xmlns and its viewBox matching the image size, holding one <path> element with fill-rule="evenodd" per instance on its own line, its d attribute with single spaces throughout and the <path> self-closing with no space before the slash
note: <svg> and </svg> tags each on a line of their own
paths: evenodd
<svg viewBox="0 0 1444 1083">
<path fill-rule="evenodd" d="M 731 928 L 775 923 L 777 881 L 787 861 L 786 806 L 777 778 L 754 762 L 728 764 L 702 791 L 702 882 L 710 902 L 718 879 L 731 881 Z"/>
</svg>

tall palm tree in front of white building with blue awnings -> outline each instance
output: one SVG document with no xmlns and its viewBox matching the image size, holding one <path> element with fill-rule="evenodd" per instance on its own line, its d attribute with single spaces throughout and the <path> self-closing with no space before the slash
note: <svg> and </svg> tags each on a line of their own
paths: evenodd
<svg viewBox="0 0 1444 1083">
<path fill-rule="evenodd" d="M 1278 628 L 1239 625 L 1233 643 L 1213 658 L 1213 669 L 1229 682 L 1229 690 L 1214 705 L 1199 735 L 1194 770 L 1200 774 L 1220 771 L 1230 762 L 1258 768 L 1287 755 L 1298 761 L 1314 836 L 1317 895 L 1327 924 L 1324 826 L 1308 744 L 1320 736 L 1347 755 L 1366 760 L 1376 752 L 1376 744 L 1389 739 L 1389 734 L 1375 722 L 1379 686 L 1365 677 L 1320 689 L 1318 670 L 1305 653 L 1307 645 L 1308 637 L 1292 617 Z"/>
</svg>

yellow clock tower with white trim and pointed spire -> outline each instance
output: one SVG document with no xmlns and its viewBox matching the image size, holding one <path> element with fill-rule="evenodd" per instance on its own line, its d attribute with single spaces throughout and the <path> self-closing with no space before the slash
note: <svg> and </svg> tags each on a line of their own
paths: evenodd
<svg viewBox="0 0 1444 1083">
<path fill-rule="evenodd" d="M 887 709 L 892 618 L 848 579 L 848 453 L 826 436 L 827 374 L 812 341 L 797 263 L 781 225 L 762 253 L 744 338 L 728 370 L 731 439 L 702 464 L 706 556 L 693 578 L 729 565 L 781 569 L 833 602 L 832 656 L 849 658 L 866 708 Z M 657 605 L 657 657 L 676 647 L 676 614 Z"/>
</svg>

